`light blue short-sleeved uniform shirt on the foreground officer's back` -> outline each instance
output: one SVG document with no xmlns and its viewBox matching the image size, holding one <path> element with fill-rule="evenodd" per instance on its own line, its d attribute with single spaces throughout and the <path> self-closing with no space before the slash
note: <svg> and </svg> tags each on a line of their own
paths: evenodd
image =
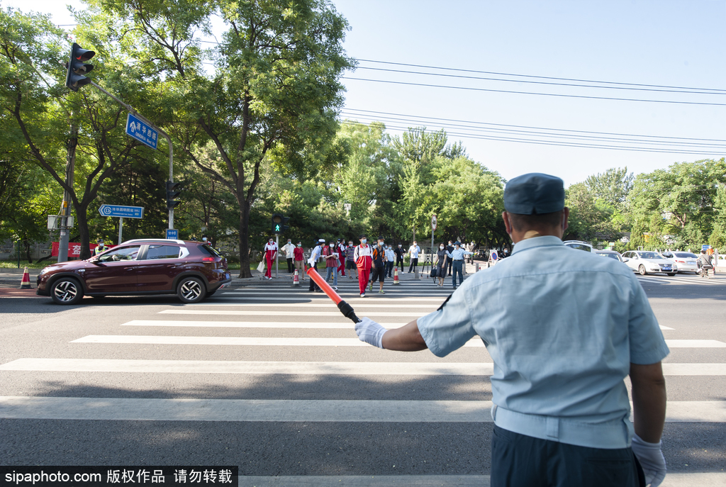
<svg viewBox="0 0 726 487">
<path fill-rule="evenodd" d="M 492 417 L 507 430 L 592 448 L 630 445 L 630 363 L 668 355 L 629 267 L 535 237 L 418 319 L 436 356 L 478 335 L 494 361 Z"/>
</svg>

